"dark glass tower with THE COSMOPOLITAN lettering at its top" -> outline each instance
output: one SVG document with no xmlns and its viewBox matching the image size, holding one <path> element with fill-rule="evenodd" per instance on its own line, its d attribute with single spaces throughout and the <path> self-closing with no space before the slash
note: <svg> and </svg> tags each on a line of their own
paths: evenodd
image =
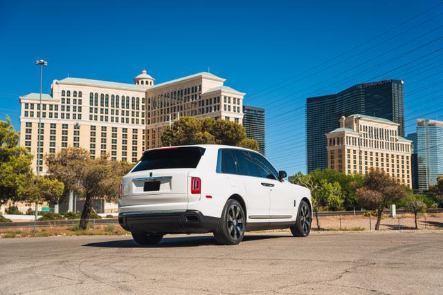
<svg viewBox="0 0 443 295">
<path fill-rule="evenodd" d="M 325 133 L 338 128 L 339 119 L 355 113 L 391 120 L 404 136 L 404 84 L 383 80 L 357 84 L 333 95 L 306 99 L 307 172 L 327 167 Z"/>
</svg>

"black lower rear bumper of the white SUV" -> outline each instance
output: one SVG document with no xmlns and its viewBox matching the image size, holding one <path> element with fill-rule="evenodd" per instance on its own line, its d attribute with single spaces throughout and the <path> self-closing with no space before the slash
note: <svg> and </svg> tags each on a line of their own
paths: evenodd
<svg viewBox="0 0 443 295">
<path fill-rule="evenodd" d="M 204 234 L 215 230 L 219 218 L 197 210 L 127 212 L 118 214 L 123 229 L 156 234 Z"/>
</svg>

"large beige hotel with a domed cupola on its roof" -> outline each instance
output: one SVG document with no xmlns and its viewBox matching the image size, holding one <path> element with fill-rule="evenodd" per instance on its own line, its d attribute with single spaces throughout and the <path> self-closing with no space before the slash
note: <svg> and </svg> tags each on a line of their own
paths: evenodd
<svg viewBox="0 0 443 295">
<path fill-rule="evenodd" d="M 213 117 L 242 124 L 245 93 L 224 86 L 226 79 L 197 73 L 155 84 L 146 70 L 134 84 L 68 77 L 54 80 L 51 94 L 20 97 L 20 143 L 37 155 L 68 146 L 87 149 L 91 158 L 136 163 L 145 151 L 161 146 L 161 133 L 180 116 Z M 39 114 L 41 144 L 37 147 Z M 37 157 L 33 169 L 37 168 Z"/>
</svg>

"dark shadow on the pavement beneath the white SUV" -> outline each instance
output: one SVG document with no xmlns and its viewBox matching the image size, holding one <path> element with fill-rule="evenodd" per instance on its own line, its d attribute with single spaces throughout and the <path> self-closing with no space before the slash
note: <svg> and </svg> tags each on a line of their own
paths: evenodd
<svg viewBox="0 0 443 295">
<path fill-rule="evenodd" d="M 243 242 L 253 240 L 266 240 L 270 238 L 284 238 L 287 236 L 270 236 L 270 235 L 247 235 L 244 236 Z M 101 248 L 167 248 L 167 247 L 198 247 L 217 245 L 213 236 L 186 236 L 180 238 L 163 238 L 158 245 L 141 246 L 134 240 L 111 240 L 108 242 L 91 242 L 85 244 L 85 247 L 101 247 Z"/>
</svg>

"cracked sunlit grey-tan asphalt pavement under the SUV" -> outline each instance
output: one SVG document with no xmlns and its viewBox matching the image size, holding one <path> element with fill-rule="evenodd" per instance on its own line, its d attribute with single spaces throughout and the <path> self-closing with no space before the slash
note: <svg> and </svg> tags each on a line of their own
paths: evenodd
<svg viewBox="0 0 443 295">
<path fill-rule="evenodd" d="M 0 238 L 0 294 L 442 294 L 443 231 Z"/>
</svg>

